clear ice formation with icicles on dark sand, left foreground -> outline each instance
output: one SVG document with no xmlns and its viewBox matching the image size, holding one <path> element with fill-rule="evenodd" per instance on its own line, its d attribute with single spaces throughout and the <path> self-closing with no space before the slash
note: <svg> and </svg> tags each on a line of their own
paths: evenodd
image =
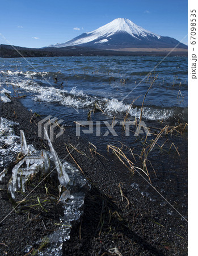
<svg viewBox="0 0 198 256">
<path fill-rule="evenodd" d="M 11 129 L 7 124 L 12 125 L 13 122 L 3 119 L 2 127 Z M 12 130 L 11 130 L 12 131 Z M 37 151 L 33 145 L 27 145 L 24 132 L 20 131 L 19 151 L 22 152 L 24 158 L 18 162 L 12 169 L 12 176 L 8 184 L 8 189 L 12 199 L 15 199 L 15 193 L 18 189 L 25 192 L 26 181 L 32 174 L 39 171 L 45 176 L 53 172 L 54 168 L 50 166 L 50 162 L 55 164 L 58 180 L 60 181 L 60 192 L 63 190 L 58 203 L 61 201 L 64 208 L 64 216 L 60 216 L 59 228 L 50 234 L 47 239 L 50 243 L 43 251 L 39 251 L 39 255 L 62 255 L 63 242 L 69 240 L 71 222 L 77 221 L 83 210 L 82 205 L 86 192 L 90 189 L 87 180 L 79 173 L 79 171 L 66 161 L 61 161 L 54 150 L 52 143 L 45 130 L 49 151 Z M 14 136 L 14 134 L 12 134 Z M 0 181 L 7 174 L 7 169 L 0 172 Z M 58 184 L 57 184 L 58 185 Z M 63 189 L 62 189 L 63 188 Z"/>
</svg>

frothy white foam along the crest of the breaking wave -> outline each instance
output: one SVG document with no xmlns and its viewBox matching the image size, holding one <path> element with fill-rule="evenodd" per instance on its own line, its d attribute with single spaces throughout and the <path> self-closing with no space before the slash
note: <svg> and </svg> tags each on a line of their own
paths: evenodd
<svg viewBox="0 0 198 256">
<path fill-rule="evenodd" d="M 12 75 L 17 72 L 10 71 Z M 19 72 L 20 73 L 20 72 Z M 28 75 L 28 73 L 26 73 Z M 30 75 L 30 74 L 29 74 Z M 32 75 L 32 73 L 31 73 Z M 45 101 L 51 103 L 58 103 L 64 106 L 72 106 L 76 109 L 94 109 L 97 104 L 104 113 L 108 115 L 125 115 L 130 107 L 129 104 L 124 104 L 116 98 L 98 98 L 96 96 L 87 96 L 83 90 L 78 90 L 77 86 L 73 87 L 70 91 L 65 89 L 54 88 L 53 86 L 41 86 L 37 82 L 30 79 L 19 80 L 19 77 L 11 77 L 10 84 L 26 90 L 27 92 L 34 93 L 33 98 L 35 101 Z M 131 117 L 140 118 L 141 109 L 131 108 L 129 115 Z M 167 119 L 174 114 L 171 109 L 154 109 L 149 106 L 143 108 L 143 117 L 146 119 Z"/>
</svg>

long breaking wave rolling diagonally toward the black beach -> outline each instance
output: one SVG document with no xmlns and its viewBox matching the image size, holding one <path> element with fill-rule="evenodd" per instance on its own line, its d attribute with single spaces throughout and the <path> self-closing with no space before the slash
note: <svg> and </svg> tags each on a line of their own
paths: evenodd
<svg viewBox="0 0 198 256">
<path fill-rule="evenodd" d="M 32 79 L 38 76 L 37 72 L 32 71 L 2 71 L 6 76 L 9 85 L 25 90 L 31 93 L 31 97 L 35 101 L 50 102 L 52 104 L 60 104 L 63 106 L 71 106 L 75 109 L 96 109 L 102 110 L 104 114 L 110 116 L 124 117 L 128 112 L 130 105 L 119 101 L 116 98 L 106 98 L 99 96 L 87 95 L 83 90 L 74 86 L 70 90 L 56 88 L 56 85 L 47 86 L 43 82 L 37 82 Z M 49 75 L 50 72 L 41 72 L 42 76 Z M 22 79 L 23 76 L 24 79 Z M 1 82 L 1 80 L 0 80 Z M 150 120 L 166 120 L 168 118 L 179 117 L 179 119 L 187 118 L 187 110 L 179 107 L 160 108 L 159 106 L 144 106 L 143 117 Z M 130 117 L 140 118 L 141 106 L 132 106 L 129 110 Z"/>
</svg>

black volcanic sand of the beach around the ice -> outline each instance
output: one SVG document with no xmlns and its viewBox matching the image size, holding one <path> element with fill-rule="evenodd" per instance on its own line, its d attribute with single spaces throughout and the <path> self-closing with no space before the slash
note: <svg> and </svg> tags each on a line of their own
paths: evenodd
<svg viewBox="0 0 198 256">
<path fill-rule="evenodd" d="M 15 127 L 16 135 L 22 129 L 28 144 L 33 144 L 37 150 L 48 148 L 47 142 L 37 137 L 37 122 L 41 117 L 34 115 L 32 118 L 32 113 L 16 99 L 0 104 L 1 117 L 19 123 Z M 161 197 L 151 200 L 134 189 L 130 172 L 124 170 L 120 162 L 112 157 L 104 159 L 98 154 L 91 155 L 89 143 L 75 137 L 71 127 L 65 127 L 65 133 L 53 143 L 61 159 L 68 155 L 65 144 L 78 145 L 78 150 L 86 154 L 79 154 L 75 150 L 71 153 L 92 188 L 85 197 L 81 220 L 73 224 L 70 240 L 64 243 L 64 255 L 187 255 L 187 222 L 174 210 L 168 214 L 172 208 Z M 77 167 L 70 156 L 66 160 Z M 186 163 L 181 164 L 186 170 Z M 9 174 L 0 183 L 0 188 L 4 189 L 0 190 L 1 220 L 13 209 L 6 191 L 11 167 Z M 141 177 L 137 180 L 140 185 L 146 184 Z M 36 183 L 37 180 L 33 180 L 27 188 L 31 189 Z M 50 187 L 50 193 L 57 196 L 58 192 L 51 183 L 45 180 L 33 192 L 33 196 L 44 200 L 46 184 Z M 171 203 L 174 204 L 173 201 Z M 177 208 L 176 204 L 174 206 Z M 48 212 L 39 207 L 20 207 L 18 212 L 13 211 L 2 221 L 0 255 L 24 255 L 32 247 L 35 250 L 40 247 L 42 238 L 57 228 L 55 223 L 58 223 L 58 216 L 62 214 L 61 204 L 55 201 L 43 207 Z"/>
</svg>

